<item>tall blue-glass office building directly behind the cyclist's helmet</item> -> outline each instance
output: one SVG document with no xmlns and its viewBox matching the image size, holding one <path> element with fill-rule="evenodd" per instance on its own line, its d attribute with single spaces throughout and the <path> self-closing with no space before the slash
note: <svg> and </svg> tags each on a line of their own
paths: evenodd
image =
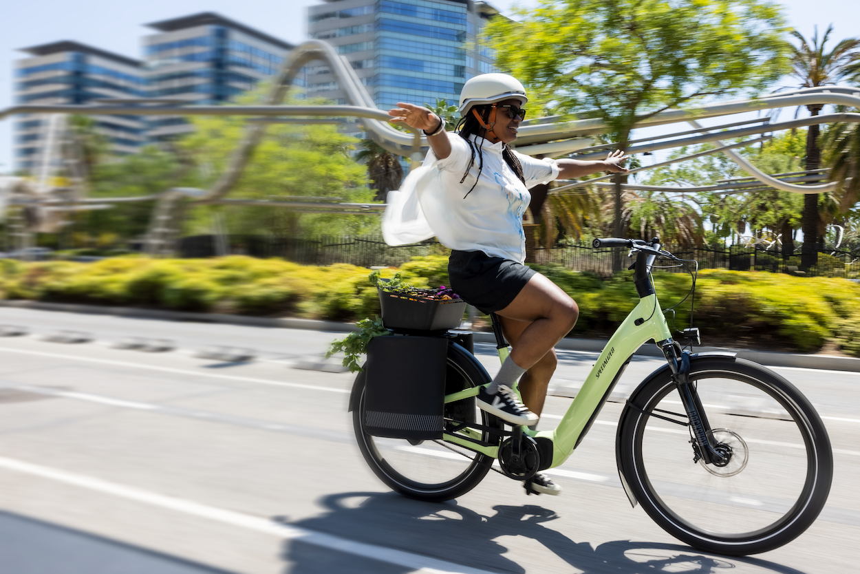
<svg viewBox="0 0 860 574">
<path fill-rule="evenodd" d="M 327 0 L 308 13 L 310 38 L 335 46 L 382 109 L 456 103 L 466 80 L 496 71 L 492 51 L 476 43 L 496 15 L 472 0 Z M 309 97 L 347 103 L 326 65 L 311 66 L 307 83 Z"/>
</svg>

